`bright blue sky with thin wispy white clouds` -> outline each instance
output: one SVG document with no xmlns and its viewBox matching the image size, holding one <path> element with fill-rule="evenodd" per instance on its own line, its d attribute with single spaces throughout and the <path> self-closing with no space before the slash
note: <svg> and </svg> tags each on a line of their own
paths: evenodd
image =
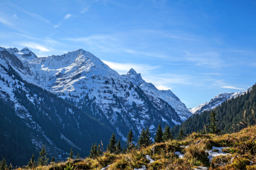
<svg viewBox="0 0 256 170">
<path fill-rule="evenodd" d="M 192 108 L 256 82 L 255 9 L 254 0 L 2 0 L 0 46 L 39 57 L 82 48 Z"/>
</svg>

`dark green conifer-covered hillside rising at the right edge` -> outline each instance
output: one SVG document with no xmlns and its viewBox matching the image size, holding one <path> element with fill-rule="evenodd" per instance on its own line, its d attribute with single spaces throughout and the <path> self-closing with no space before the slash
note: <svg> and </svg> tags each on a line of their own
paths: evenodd
<svg viewBox="0 0 256 170">
<path fill-rule="evenodd" d="M 256 85 L 247 91 L 244 95 L 240 95 L 235 99 L 226 100 L 220 106 L 214 109 L 217 113 L 218 128 L 222 133 L 233 132 L 234 130 L 241 130 L 243 127 L 238 125 L 243 119 L 243 114 L 246 111 L 245 117 L 250 124 L 255 124 L 253 111 L 256 111 Z M 201 114 L 193 114 L 188 120 L 181 125 L 176 125 L 171 129 L 174 137 L 177 137 L 180 129 L 183 129 L 185 134 L 191 134 L 193 131 L 204 131 L 207 124 L 209 124 L 209 114 L 212 111 L 206 111 Z M 255 115 L 256 116 L 256 115 Z M 233 126 L 233 128 L 232 128 Z M 234 129 L 235 127 L 235 129 Z"/>
</svg>

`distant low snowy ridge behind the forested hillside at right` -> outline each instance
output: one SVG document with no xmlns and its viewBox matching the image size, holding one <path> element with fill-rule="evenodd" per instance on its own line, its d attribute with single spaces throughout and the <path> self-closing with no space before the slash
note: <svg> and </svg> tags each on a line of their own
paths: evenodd
<svg viewBox="0 0 256 170">
<path fill-rule="evenodd" d="M 248 89 L 250 91 L 251 87 Z M 205 102 L 203 104 L 198 105 L 195 108 L 189 109 L 193 114 L 195 113 L 201 113 L 204 111 L 209 111 L 210 109 L 214 109 L 221 103 L 223 103 L 226 100 L 230 100 L 232 98 L 236 98 L 239 95 L 245 94 L 246 91 L 241 91 L 241 92 L 231 92 L 231 93 L 222 93 L 214 97 L 212 100 L 209 102 Z"/>
</svg>

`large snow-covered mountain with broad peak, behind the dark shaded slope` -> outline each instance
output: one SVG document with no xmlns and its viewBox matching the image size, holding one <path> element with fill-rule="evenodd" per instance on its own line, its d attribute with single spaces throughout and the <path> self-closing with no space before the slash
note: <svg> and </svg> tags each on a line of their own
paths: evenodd
<svg viewBox="0 0 256 170">
<path fill-rule="evenodd" d="M 171 91 L 157 90 L 133 69 L 119 75 L 85 50 L 38 58 L 28 48 L 1 49 L 22 62 L 13 66 L 24 80 L 112 126 L 123 140 L 130 129 L 138 135 L 148 126 L 153 133 L 159 122 L 174 126 L 192 114 Z"/>
</svg>

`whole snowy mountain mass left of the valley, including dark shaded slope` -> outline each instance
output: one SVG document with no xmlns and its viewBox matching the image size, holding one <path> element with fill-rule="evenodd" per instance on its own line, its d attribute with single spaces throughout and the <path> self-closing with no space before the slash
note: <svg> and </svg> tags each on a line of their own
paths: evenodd
<svg viewBox="0 0 256 170">
<path fill-rule="evenodd" d="M 13 128 L 19 126 L 19 143 L 30 148 L 17 164 L 43 145 L 58 159 L 67 158 L 71 147 L 86 156 L 93 142 L 106 146 L 113 131 L 125 141 L 130 129 L 135 138 L 147 127 L 154 135 L 159 123 L 172 127 L 192 115 L 170 90 L 158 90 L 134 69 L 119 75 L 82 49 L 37 57 L 28 48 L 0 48 L 0 63 L 0 104 L 9 108 L 0 110 L 6 117 L 1 143 L 17 141 Z"/>
</svg>

